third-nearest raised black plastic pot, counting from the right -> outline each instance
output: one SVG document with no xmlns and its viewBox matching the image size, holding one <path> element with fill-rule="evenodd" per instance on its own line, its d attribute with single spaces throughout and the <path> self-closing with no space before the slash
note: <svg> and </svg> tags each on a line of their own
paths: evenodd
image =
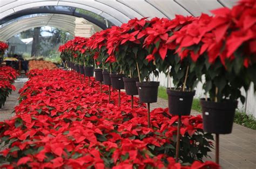
<svg viewBox="0 0 256 169">
<path fill-rule="evenodd" d="M 142 103 L 157 102 L 159 82 L 136 82 L 138 87 L 139 100 Z"/>
</svg>

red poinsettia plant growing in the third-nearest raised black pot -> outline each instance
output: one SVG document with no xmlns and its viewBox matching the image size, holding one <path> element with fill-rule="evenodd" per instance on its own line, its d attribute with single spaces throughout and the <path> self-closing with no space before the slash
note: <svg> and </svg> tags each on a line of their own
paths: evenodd
<svg viewBox="0 0 256 169">
<path fill-rule="evenodd" d="M 145 29 L 154 21 L 147 21 L 146 18 L 131 19 L 128 23 L 122 24 L 120 28 L 110 31 L 107 40 L 107 53 L 109 60 L 119 67 L 126 76 L 137 77 L 141 80 L 150 80 L 150 74 L 158 76 L 158 71 L 153 63 L 145 62 L 148 51 L 143 49 Z"/>
</svg>

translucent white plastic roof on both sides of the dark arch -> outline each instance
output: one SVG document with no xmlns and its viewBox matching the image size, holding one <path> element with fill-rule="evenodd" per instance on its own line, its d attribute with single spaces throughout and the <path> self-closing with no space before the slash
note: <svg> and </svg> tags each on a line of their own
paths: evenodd
<svg viewBox="0 0 256 169">
<path fill-rule="evenodd" d="M 165 17 L 175 15 L 199 16 L 202 12 L 223 6 L 231 8 L 238 0 L 0 0 L 0 19 L 17 12 L 43 6 L 69 6 L 83 9 L 101 16 L 114 25 L 121 25 L 131 18 Z M 0 25 L 0 39 L 6 40 L 17 33 L 36 26 L 54 26 L 73 35 L 75 17 L 58 14 L 38 15 L 11 21 L 9 25 Z M 15 23 L 14 23 L 15 22 Z"/>
</svg>

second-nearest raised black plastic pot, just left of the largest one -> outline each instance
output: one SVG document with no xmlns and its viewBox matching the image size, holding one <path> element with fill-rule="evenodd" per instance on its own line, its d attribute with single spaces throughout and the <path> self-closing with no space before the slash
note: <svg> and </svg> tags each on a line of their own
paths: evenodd
<svg viewBox="0 0 256 169">
<path fill-rule="evenodd" d="M 191 112 L 193 97 L 196 91 L 167 90 L 169 112 L 173 115 L 188 116 Z"/>
</svg>

